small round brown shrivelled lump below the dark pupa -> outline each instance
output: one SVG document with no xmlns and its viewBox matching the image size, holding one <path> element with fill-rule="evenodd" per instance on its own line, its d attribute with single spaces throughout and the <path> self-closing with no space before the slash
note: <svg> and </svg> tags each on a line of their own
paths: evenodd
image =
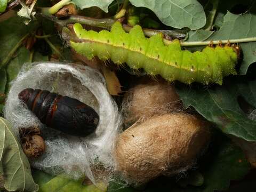
<svg viewBox="0 0 256 192">
<path fill-rule="evenodd" d="M 36 158 L 45 151 L 45 143 L 41 136 L 32 135 L 22 138 L 22 149 L 30 158 Z"/>
</svg>

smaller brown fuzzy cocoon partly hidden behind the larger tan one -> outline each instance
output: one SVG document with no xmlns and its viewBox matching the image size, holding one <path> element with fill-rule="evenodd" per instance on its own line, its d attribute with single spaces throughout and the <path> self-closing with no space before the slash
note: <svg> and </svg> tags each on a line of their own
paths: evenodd
<svg viewBox="0 0 256 192">
<path fill-rule="evenodd" d="M 125 123 L 149 118 L 181 107 L 175 87 L 165 81 L 142 78 L 139 84 L 127 91 L 123 101 Z"/>
</svg>

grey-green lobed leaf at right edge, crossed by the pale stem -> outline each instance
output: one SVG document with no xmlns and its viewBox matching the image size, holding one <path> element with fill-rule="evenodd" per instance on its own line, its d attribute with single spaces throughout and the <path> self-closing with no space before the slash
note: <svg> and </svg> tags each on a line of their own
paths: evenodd
<svg viewBox="0 0 256 192">
<path fill-rule="evenodd" d="M 221 40 L 221 39 L 239 39 L 246 37 L 255 37 L 256 31 L 256 15 L 246 13 L 242 15 L 236 15 L 228 12 L 223 21 L 223 25 L 220 30 L 216 31 L 207 40 Z M 243 61 L 240 68 L 240 74 L 244 75 L 247 72 L 249 66 L 256 62 L 256 42 L 241 43 L 243 51 Z"/>
</svg>

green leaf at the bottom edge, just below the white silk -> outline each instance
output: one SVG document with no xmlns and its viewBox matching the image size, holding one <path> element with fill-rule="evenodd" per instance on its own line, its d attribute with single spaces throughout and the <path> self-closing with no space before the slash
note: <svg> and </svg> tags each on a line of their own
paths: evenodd
<svg viewBox="0 0 256 192">
<path fill-rule="evenodd" d="M 39 192 L 104 192 L 107 190 L 107 186 L 104 183 L 98 183 L 98 187 L 94 185 L 84 186 L 82 180 L 71 180 L 61 175 L 54 177 L 50 181 L 39 186 Z"/>
</svg>

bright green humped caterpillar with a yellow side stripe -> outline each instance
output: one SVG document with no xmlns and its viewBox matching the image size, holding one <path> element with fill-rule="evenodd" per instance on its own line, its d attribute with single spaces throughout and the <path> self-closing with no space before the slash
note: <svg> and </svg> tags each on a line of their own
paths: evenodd
<svg viewBox="0 0 256 192">
<path fill-rule="evenodd" d="M 70 46 L 88 59 L 98 56 L 117 65 L 127 63 L 133 69 L 143 68 L 149 75 L 161 75 L 167 81 L 222 84 L 224 76 L 236 74 L 237 47 L 207 46 L 201 52 L 191 53 L 181 50 L 178 39 L 166 46 L 161 33 L 146 38 L 138 25 L 126 33 L 119 22 L 114 23 L 110 32 L 87 31 L 79 23 L 75 23 L 74 31 L 78 40 L 71 40 Z"/>
</svg>

